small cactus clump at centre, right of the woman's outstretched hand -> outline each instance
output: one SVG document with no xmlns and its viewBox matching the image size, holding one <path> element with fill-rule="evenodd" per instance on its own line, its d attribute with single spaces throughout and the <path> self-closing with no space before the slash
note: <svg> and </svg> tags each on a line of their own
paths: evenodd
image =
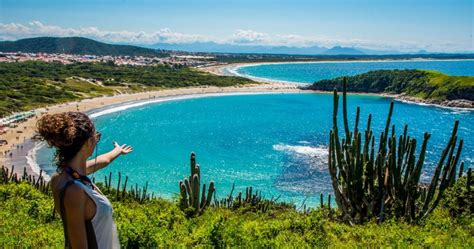
<svg viewBox="0 0 474 249">
<path fill-rule="evenodd" d="M 193 215 L 201 214 L 206 207 L 211 204 L 212 195 L 215 192 L 214 182 L 209 183 L 209 189 L 207 190 L 206 196 L 206 184 L 202 186 L 202 194 L 200 194 L 201 188 L 201 170 L 199 165 L 196 163 L 196 155 L 191 153 L 191 175 L 188 179 L 179 182 L 181 202 L 180 207 L 183 210 L 192 208 Z"/>
</svg>

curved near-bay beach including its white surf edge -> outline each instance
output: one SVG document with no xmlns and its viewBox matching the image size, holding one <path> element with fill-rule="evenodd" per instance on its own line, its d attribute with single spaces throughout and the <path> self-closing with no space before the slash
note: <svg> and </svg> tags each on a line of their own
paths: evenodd
<svg viewBox="0 0 474 249">
<path fill-rule="evenodd" d="M 35 124 L 38 118 L 44 114 L 54 114 L 66 111 L 81 111 L 87 113 L 91 118 L 108 113 L 147 105 L 158 102 L 183 100 L 191 98 L 227 96 L 240 94 L 277 94 L 277 93 L 310 93 L 301 90 L 298 85 L 282 83 L 260 83 L 252 85 L 240 85 L 231 87 L 188 87 L 165 89 L 159 91 L 148 91 L 133 94 L 120 94 L 114 96 L 96 97 L 80 101 L 71 101 L 34 109 L 35 116 L 19 123 L 16 128 L 10 128 L 2 135 L 2 139 L 8 141 L 8 145 L 0 146 L 0 165 L 11 169 L 15 166 L 14 173 L 19 177 L 24 170 L 31 176 L 38 177 L 41 168 L 36 162 L 36 150 L 39 148 L 36 141 L 31 138 L 35 133 Z M 7 153 L 8 152 L 8 153 Z M 12 154 L 10 156 L 10 153 Z M 45 180 L 49 176 L 44 172 Z"/>
</svg>

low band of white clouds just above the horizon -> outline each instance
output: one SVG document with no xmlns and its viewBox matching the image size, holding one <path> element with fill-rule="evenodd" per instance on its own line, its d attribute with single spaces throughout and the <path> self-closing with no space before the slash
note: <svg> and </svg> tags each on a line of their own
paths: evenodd
<svg viewBox="0 0 474 249">
<path fill-rule="evenodd" d="M 155 32 L 108 31 L 97 27 L 64 28 L 45 25 L 39 21 L 28 24 L 0 23 L 0 39 L 16 40 L 38 36 L 83 36 L 112 43 L 153 44 L 153 43 L 192 43 L 209 42 L 230 43 L 239 45 L 273 45 L 273 46 L 347 46 L 363 47 L 376 50 L 418 51 L 426 49 L 435 52 L 459 52 L 472 50 L 472 44 L 466 42 L 437 41 L 422 43 L 419 41 L 373 41 L 365 39 L 334 38 L 327 36 L 301 36 L 297 34 L 277 34 L 258 32 L 249 29 L 236 30 L 229 37 L 214 38 L 200 34 L 185 34 L 163 28 Z"/>
</svg>

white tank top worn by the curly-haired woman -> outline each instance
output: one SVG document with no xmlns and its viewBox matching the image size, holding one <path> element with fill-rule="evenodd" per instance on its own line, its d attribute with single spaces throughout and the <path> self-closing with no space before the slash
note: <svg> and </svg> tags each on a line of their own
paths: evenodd
<svg viewBox="0 0 474 249">
<path fill-rule="evenodd" d="M 75 180 L 75 183 L 77 183 L 95 203 L 96 211 L 91 223 L 94 227 L 98 248 L 120 248 L 117 227 L 112 217 L 112 204 L 110 204 L 110 201 L 100 192 L 97 186 L 94 185 L 94 189 L 92 189 L 92 186 L 85 185 L 79 180 Z"/>
</svg>

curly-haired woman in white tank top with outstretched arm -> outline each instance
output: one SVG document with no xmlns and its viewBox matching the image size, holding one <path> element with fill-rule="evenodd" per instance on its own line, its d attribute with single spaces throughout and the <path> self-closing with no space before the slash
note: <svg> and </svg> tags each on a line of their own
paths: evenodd
<svg viewBox="0 0 474 249">
<path fill-rule="evenodd" d="M 63 221 L 65 247 L 120 247 L 111 203 L 87 175 L 132 152 L 132 147 L 114 142 L 110 152 L 87 160 L 101 134 L 81 112 L 46 114 L 36 126 L 38 137 L 56 148 L 57 172 L 51 177 L 51 187 Z"/>
</svg>

